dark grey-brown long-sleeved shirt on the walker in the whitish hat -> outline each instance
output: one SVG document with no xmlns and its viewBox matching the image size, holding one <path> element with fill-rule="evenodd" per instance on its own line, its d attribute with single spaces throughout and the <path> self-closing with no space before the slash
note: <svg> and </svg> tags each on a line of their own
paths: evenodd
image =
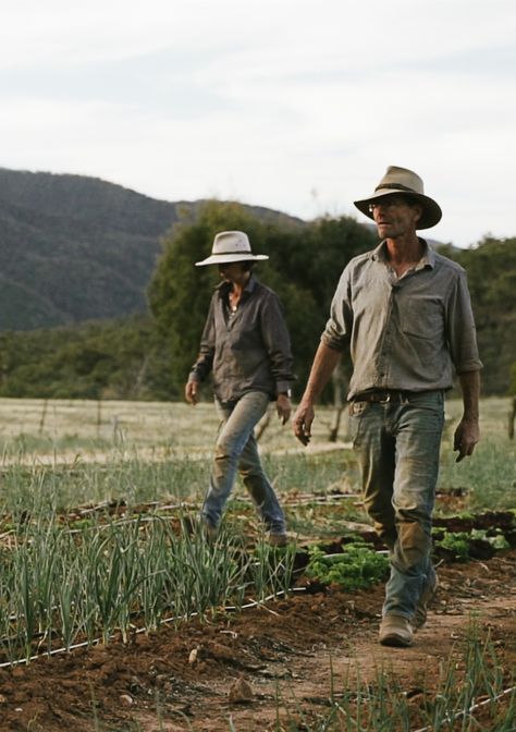
<svg viewBox="0 0 516 732">
<path fill-rule="evenodd" d="M 212 370 L 221 402 L 254 390 L 275 399 L 294 380 L 291 339 L 278 295 L 251 274 L 238 308 L 231 313 L 230 288 L 222 282 L 213 293 L 189 378 L 204 381 Z"/>
</svg>

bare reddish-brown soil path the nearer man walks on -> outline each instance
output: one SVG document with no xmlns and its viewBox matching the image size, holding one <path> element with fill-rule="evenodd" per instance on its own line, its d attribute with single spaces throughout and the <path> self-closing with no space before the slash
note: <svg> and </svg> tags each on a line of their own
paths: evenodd
<svg viewBox="0 0 516 732">
<path fill-rule="evenodd" d="M 339 694 L 357 673 L 371 684 L 380 669 L 394 674 L 417 703 L 423 687 L 437 688 L 472 615 L 489 632 L 505 687 L 514 684 L 516 550 L 444 561 L 439 576 L 428 623 L 410 648 L 378 644 L 383 586 L 353 594 L 316 586 L 205 624 L 136 634 L 127 645 L 2 669 L 0 730 L 306 730 L 328 715 L 332 684 Z"/>
</svg>

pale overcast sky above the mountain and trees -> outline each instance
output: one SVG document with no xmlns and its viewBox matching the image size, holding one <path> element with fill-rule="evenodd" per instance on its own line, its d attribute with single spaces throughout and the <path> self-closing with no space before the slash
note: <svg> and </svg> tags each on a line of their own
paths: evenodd
<svg viewBox="0 0 516 732">
<path fill-rule="evenodd" d="M 397 164 L 430 237 L 516 236 L 516 0 L 7 4 L 1 167 L 365 221 Z"/>
</svg>

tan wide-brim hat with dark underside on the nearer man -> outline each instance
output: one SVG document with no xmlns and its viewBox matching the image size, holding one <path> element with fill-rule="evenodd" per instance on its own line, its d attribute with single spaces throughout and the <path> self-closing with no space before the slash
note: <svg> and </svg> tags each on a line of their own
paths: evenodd
<svg viewBox="0 0 516 732">
<path fill-rule="evenodd" d="M 425 195 L 422 180 L 417 173 L 407 168 L 389 166 L 386 173 L 374 188 L 374 193 L 369 198 L 355 200 L 354 204 L 359 211 L 370 219 L 373 219 L 369 205 L 377 198 L 390 196 L 393 194 L 403 194 L 414 198 L 422 206 L 421 218 L 416 224 L 416 229 L 430 229 L 441 221 L 442 211 L 438 203 Z"/>
</svg>

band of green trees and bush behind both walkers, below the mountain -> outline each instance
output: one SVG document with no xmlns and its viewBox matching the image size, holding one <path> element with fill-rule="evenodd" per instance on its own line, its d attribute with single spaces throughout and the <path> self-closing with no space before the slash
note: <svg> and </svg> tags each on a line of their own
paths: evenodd
<svg viewBox="0 0 516 732">
<path fill-rule="evenodd" d="M 254 251 L 270 257 L 256 273 L 283 303 L 298 396 L 342 269 L 353 256 L 376 246 L 377 237 L 353 218 L 321 218 L 302 225 L 216 202 L 205 204 L 195 220 L 176 223 L 165 239 L 148 288 L 150 314 L 0 333 L 0 395 L 182 399 L 219 281 L 216 267 L 197 268 L 194 263 L 209 254 L 214 234 L 225 229 L 246 231 Z M 484 363 L 483 393 L 516 393 L 516 239 L 486 237 L 469 249 L 449 245 L 441 251 L 468 272 Z"/>
</svg>

